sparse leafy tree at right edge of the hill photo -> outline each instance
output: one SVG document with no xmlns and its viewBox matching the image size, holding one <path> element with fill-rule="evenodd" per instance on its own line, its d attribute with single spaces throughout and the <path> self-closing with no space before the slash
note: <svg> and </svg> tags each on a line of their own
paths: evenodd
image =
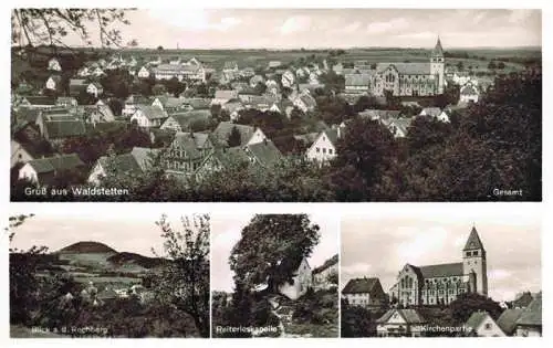
<svg viewBox="0 0 553 348">
<path fill-rule="evenodd" d="M 194 318 L 201 337 L 209 337 L 209 215 L 181 218 L 181 230 L 174 230 L 163 215 L 165 257 L 170 260 L 157 284 L 157 295 Z"/>
</svg>

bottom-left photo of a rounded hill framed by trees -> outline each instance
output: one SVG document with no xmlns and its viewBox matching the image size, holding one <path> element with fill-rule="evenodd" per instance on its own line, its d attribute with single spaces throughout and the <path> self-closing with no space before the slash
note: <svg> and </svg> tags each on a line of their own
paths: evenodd
<svg viewBox="0 0 553 348">
<path fill-rule="evenodd" d="M 10 217 L 10 336 L 209 338 L 209 215 L 91 211 Z"/>
</svg>

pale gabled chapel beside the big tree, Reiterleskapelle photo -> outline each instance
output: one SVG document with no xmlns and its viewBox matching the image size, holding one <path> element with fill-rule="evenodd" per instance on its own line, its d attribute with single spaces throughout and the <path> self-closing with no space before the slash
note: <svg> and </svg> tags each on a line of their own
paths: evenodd
<svg viewBox="0 0 553 348">
<path fill-rule="evenodd" d="M 292 282 L 285 282 L 279 286 L 279 293 L 290 299 L 298 299 L 305 295 L 313 286 L 313 276 L 307 260 L 303 256 L 283 260 L 280 264 L 288 270 L 295 270 Z"/>
</svg>

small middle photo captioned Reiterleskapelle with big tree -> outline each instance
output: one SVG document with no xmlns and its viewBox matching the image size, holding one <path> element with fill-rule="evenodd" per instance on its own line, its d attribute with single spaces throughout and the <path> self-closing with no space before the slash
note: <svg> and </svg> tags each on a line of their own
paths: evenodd
<svg viewBox="0 0 553 348">
<path fill-rule="evenodd" d="M 213 214 L 213 338 L 338 337 L 340 219 Z"/>
</svg>

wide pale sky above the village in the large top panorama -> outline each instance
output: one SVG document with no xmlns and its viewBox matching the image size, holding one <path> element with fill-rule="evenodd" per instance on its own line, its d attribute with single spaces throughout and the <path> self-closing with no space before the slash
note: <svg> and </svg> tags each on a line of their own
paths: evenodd
<svg viewBox="0 0 553 348">
<path fill-rule="evenodd" d="M 540 10 L 156 8 L 128 12 L 123 42 L 166 49 L 541 46 Z M 97 28 L 88 27 L 97 44 Z M 69 45 L 81 45 L 75 35 Z"/>
</svg>

